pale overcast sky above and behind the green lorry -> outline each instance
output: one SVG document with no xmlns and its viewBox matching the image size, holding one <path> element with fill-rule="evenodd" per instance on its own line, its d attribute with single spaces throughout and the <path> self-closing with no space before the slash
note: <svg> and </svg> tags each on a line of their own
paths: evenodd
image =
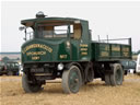
<svg viewBox="0 0 140 105">
<path fill-rule="evenodd" d="M 38 11 L 48 16 L 79 18 L 89 21 L 92 38 L 132 38 L 132 50 L 140 49 L 140 2 L 49 2 L 3 1 L 1 3 L 1 51 L 20 51 L 24 33 L 21 20 Z"/>
</svg>

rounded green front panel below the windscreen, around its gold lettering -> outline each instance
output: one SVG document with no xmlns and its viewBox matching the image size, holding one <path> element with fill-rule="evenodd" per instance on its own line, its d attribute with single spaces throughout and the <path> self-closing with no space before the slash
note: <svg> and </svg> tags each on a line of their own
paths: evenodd
<svg viewBox="0 0 140 105">
<path fill-rule="evenodd" d="M 44 39 L 32 39 L 30 42 L 26 42 L 23 46 L 22 49 L 24 49 L 26 46 L 33 45 L 33 44 L 40 44 L 40 45 L 46 45 L 48 47 L 50 47 L 52 49 L 51 52 L 49 52 L 48 50 L 45 50 L 43 48 L 31 48 L 30 50 L 27 50 L 25 54 L 22 52 L 22 61 L 23 62 L 50 62 L 50 61 L 60 61 L 63 59 L 59 59 L 59 55 L 66 54 L 68 55 L 68 59 L 70 58 L 70 52 L 66 50 L 65 48 L 65 39 L 58 39 L 57 42 L 51 42 L 51 40 L 44 40 Z M 32 57 L 37 57 L 36 55 L 31 55 L 27 56 L 27 52 L 36 52 L 36 51 L 45 51 L 45 55 L 38 55 L 39 59 L 37 60 L 33 60 Z M 65 59 L 65 60 L 68 60 Z"/>
</svg>

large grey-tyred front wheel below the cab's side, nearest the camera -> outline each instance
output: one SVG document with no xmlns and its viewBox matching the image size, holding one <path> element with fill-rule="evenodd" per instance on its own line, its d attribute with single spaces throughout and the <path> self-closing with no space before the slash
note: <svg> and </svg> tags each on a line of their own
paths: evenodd
<svg viewBox="0 0 140 105">
<path fill-rule="evenodd" d="M 62 73 L 62 89 L 67 94 L 77 93 L 82 85 L 81 72 L 77 66 L 71 66 Z"/>
</svg>

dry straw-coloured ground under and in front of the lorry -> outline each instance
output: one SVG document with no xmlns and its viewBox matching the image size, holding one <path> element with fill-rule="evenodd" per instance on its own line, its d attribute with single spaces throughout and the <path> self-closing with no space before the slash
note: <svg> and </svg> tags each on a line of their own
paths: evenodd
<svg viewBox="0 0 140 105">
<path fill-rule="evenodd" d="M 63 94 L 61 83 L 46 83 L 39 93 L 25 93 L 21 77 L 0 78 L 1 105 L 140 105 L 140 77 L 125 77 L 121 86 L 94 80 L 77 94 Z"/>
</svg>

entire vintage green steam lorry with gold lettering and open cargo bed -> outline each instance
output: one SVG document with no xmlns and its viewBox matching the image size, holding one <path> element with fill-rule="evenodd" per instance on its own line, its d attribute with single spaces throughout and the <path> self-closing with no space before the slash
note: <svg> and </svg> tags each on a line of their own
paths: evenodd
<svg viewBox="0 0 140 105">
<path fill-rule="evenodd" d="M 46 80 L 58 78 L 68 94 L 96 78 L 107 85 L 122 84 L 120 60 L 131 59 L 130 38 L 129 44 L 93 42 L 88 21 L 46 18 L 43 12 L 21 24 L 26 40 L 22 45 L 22 86 L 26 93 L 38 92 Z"/>
</svg>

